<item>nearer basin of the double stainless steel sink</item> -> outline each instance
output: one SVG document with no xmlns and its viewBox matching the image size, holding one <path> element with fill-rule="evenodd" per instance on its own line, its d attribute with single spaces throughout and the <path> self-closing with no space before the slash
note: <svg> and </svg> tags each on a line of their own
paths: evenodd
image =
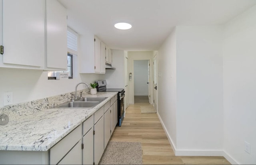
<svg viewBox="0 0 256 165">
<path fill-rule="evenodd" d="M 55 106 L 54 108 L 93 108 L 94 106 L 98 105 L 99 103 L 100 102 L 98 102 L 98 101 L 66 102 L 64 104 Z"/>
</svg>

